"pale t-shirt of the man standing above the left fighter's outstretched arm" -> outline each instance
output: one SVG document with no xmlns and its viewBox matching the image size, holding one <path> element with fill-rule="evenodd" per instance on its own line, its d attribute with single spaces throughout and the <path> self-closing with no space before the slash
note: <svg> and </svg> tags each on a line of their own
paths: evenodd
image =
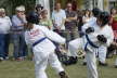
<svg viewBox="0 0 117 78">
<path fill-rule="evenodd" d="M 61 26 L 63 20 L 66 18 L 66 14 L 64 10 L 60 10 L 60 12 L 53 11 L 52 12 L 52 20 L 56 24 L 56 26 Z M 65 25 L 61 26 L 62 30 L 65 30 Z"/>
</svg>

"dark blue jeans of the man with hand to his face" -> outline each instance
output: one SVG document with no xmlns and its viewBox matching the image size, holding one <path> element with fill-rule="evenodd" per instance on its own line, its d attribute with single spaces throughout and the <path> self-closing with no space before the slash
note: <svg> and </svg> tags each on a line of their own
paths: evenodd
<svg viewBox="0 0 117 78">
<path fill-rule="evenodd" d="M 25 42 L 24 32 L 22 34 L 13 34 L 13 44 L 14 44 L 14 57 L 24 57 L 27 54 L 27 46 Z"/>
</svg>

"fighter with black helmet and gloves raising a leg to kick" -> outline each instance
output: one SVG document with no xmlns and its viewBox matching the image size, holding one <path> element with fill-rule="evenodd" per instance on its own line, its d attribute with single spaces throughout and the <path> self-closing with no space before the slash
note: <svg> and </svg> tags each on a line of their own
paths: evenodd
<svg viewBox="0 0 117 78">
<path fill-rule="evenodd" d="M 108 47 L 114 39 L 113 29 L 108 26 L 109 15 L 106 12 L 102 12 L 98 17 L 98 21 L 83 26 L 83 38 L 77 38 L 69 42 L 68 51 L 69 55 L 75 57 L 76 51 L 82 48 L 86 51 L 86 60 L 88 67 L 88 78 L 99 78 L 96 69 L 96 51 L 101 46 Z"/>
</svg>

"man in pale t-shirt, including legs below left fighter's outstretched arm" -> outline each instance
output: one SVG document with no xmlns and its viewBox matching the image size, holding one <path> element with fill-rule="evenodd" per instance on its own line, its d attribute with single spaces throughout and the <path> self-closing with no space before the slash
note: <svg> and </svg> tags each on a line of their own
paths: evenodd
<svg viewBox="0 0 117 78">
<path fill-rule="evenodd" d="M 65 20 L 66 20 L 66 14 L 65 11 L 61 9 L 61 3 L 55 3 L 55 9 L 52 12 L 53 30 L 63 37 L 65 37 Z M 61 61 L 62 47 L 56 42 L 55 46 L 56 46 L 55 52 L 58 56 L 58 60 Z"/>
</svg>

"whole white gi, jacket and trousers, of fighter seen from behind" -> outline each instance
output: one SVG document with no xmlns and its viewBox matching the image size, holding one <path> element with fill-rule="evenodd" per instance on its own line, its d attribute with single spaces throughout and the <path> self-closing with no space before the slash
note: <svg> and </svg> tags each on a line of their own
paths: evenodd
<svg viewBox="0 0 117 78">
<path fill-rule="evenodd" d="M 55 46 L 52 43 L 52 41 L 55 41 L 63 44 L 65 43 L 64 38 L 49 30 L 44 26 L 39 26 L 35 24 L 32 29 L 25 32 L 26 43 L 30 46 L 46 37 L 47 39 L 32 47 L 36 78 L 48 78 L 44 72 L 48 64 L 55 68 L 57 73 L 64 70 L 57 60 L 57 56 L 54 54 Z"/>
</svg>

